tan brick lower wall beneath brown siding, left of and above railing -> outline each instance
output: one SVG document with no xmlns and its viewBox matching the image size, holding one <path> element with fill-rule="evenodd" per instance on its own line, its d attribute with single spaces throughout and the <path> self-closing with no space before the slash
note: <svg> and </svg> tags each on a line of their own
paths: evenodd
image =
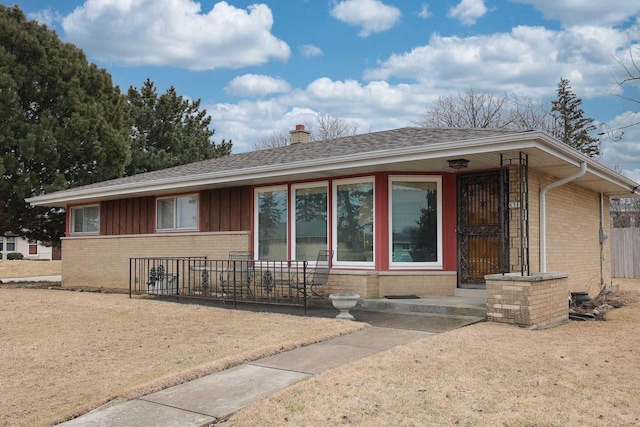
<svg viewBox="0 0 640 427">
<path fill-rule="evenodd" d="M 247 250 L 249 232 L 147 234 L 62 239 L 62 284 L 129 289 L 129 258 L 207 256 Z"/>
</svg>

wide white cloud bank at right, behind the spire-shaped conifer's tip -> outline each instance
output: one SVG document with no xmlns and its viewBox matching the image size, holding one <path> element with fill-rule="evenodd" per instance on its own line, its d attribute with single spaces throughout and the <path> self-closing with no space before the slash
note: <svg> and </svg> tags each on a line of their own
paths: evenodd
<svg viewBox="0 0 640 427">
<path fill-rule="evenodd" d="M 626 38 L 624 31 L 599 27 L 552 31 L 520 26 L 510 33 L 471 37 L 434 34 L 427 45 L 391 55 L 366 70 L 365 78 L 409 78 L 438 90 L 543 96 L 565 77 L 582 97 L 592 97 L 611 87 L 611 53 Z"/>
</svg>

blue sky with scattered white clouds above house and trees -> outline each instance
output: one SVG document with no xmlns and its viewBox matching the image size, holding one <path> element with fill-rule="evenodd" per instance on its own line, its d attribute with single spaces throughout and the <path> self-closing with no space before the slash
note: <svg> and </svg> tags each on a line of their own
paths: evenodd
<svg viewBox="0 0 640 427">
<path fill-rule="evenodd" d="M 234 152 L 318 116 L 411 126 L 468 89 L 550 102 L 561 77 L 598 123 L 620 129 L 638 111 L 612 95 L 615 58 L 640 46 L 638 0 L 1 2 L 82 48 L 123 91 L 150 78 L 201 99 Z M 623 95 L 640 100 L 639 89 Z M 640 126 L 605 136 L 603 151 L 640 180 Z"/>
</svg>

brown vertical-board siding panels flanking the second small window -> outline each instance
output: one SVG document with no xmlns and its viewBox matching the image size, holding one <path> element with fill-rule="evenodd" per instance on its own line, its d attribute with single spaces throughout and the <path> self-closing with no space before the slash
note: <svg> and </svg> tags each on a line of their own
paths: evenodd
<svg viewBox="0 0 640 427">
<path fill-rule="evenodd" d="M 199 231 L 251 230 L 251 187 L 203 190 L 199 193 Z M 155 197 L 100 203 L 100 234 L 124 236 L 155 232 Z"/>
</svg>

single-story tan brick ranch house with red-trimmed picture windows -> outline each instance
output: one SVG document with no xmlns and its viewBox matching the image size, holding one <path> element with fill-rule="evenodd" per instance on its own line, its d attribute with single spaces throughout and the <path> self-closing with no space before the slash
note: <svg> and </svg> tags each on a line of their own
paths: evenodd
<svg viewBox="0 0 640 427">
<path fill-rule="evenodd" d="M 328 292 L 453 295 L 534 272 L 568 273 L 583 291 L 610 280 L 609 198 L 638 195 L 542 132 L 291 133 L 287 147 L 29 199 L 67 209 L 63 283 L 128 287 L 130 257 L 313 260 L 329 248 Z"/>
</svg>

